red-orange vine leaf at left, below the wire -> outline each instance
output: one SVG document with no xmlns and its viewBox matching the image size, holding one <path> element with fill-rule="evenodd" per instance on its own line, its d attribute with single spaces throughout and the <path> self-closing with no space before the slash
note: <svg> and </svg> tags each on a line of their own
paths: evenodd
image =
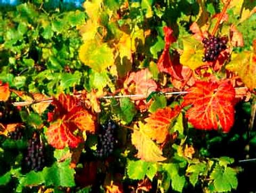
<svg viewBox="0 0 256 193">
<path fill-rule="evenodd" d="M 48 114 L 48 120 L 56 120 L 48 128 L 46 135 L 49 143 L 57 148 L 77 147 L 82 142 L 82 136 L 75 136 L 78 130 L 94 133 L 95 126 L 93 116 L 87 112 L 76 98 L 70 95 L 60 94 L 59 100 L 54 100 L 56 106 L 54 112 Z"/>
</svg>

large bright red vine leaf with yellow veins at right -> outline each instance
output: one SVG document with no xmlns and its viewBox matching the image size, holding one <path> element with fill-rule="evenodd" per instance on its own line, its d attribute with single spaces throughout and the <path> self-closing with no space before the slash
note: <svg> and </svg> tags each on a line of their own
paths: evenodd
<svg viewBox="0 0 256 193">
<path fill-rule="evenodd" d="M 186 117 L 195 128 L 230 130 L 235 115 L 235 90 L 230 83 L 196 82 L 187 91 L 182 106 L 191 106 Z"/>
</svg>

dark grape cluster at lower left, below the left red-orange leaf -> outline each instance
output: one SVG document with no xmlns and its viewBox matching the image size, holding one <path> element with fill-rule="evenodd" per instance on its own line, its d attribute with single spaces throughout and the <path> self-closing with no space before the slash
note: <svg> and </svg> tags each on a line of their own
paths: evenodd
<svg viewBox="0 0 256 193">
<path fill-rule="evenodd" d="M 25 157 L 28 170 L 40 171 L 45 166 L 44 144 L 36 136 L 29 140 L 27 156 Z"/>
</svg>

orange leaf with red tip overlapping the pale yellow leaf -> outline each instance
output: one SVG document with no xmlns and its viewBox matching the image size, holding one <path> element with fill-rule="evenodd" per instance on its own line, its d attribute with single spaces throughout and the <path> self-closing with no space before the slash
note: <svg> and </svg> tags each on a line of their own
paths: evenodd
<svg viewBox="0 0 256 193">
<path fill-rule="evenodd" d="M 179 115 L 181 108 L 176 106 L 174 109 L 166 107 L 164 109 L 158 109 L 156 112 L 149 115 L 145 119 L 147 122 L 145 125 L 145 133 L 149 138 L 156 140 L 158 143 L 163 143 L 166 140 L 168 127 L 173 120 Z"/>
</svg>

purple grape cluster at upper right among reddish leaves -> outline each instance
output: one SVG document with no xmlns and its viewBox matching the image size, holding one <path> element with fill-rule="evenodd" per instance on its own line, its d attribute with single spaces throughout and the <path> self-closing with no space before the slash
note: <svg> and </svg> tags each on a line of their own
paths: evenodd
<svg viewBox="0 0 256 193">
<path fill-rule="evenodd" d="M 203 62 L 215 61 L 217 60 L 221 51 L 227 48 L 226 44 L 228 42 L 227 37 L 214 37 L 209 36 L 203 39 L 203 44 L 205 47 Z"/>
</svg>

